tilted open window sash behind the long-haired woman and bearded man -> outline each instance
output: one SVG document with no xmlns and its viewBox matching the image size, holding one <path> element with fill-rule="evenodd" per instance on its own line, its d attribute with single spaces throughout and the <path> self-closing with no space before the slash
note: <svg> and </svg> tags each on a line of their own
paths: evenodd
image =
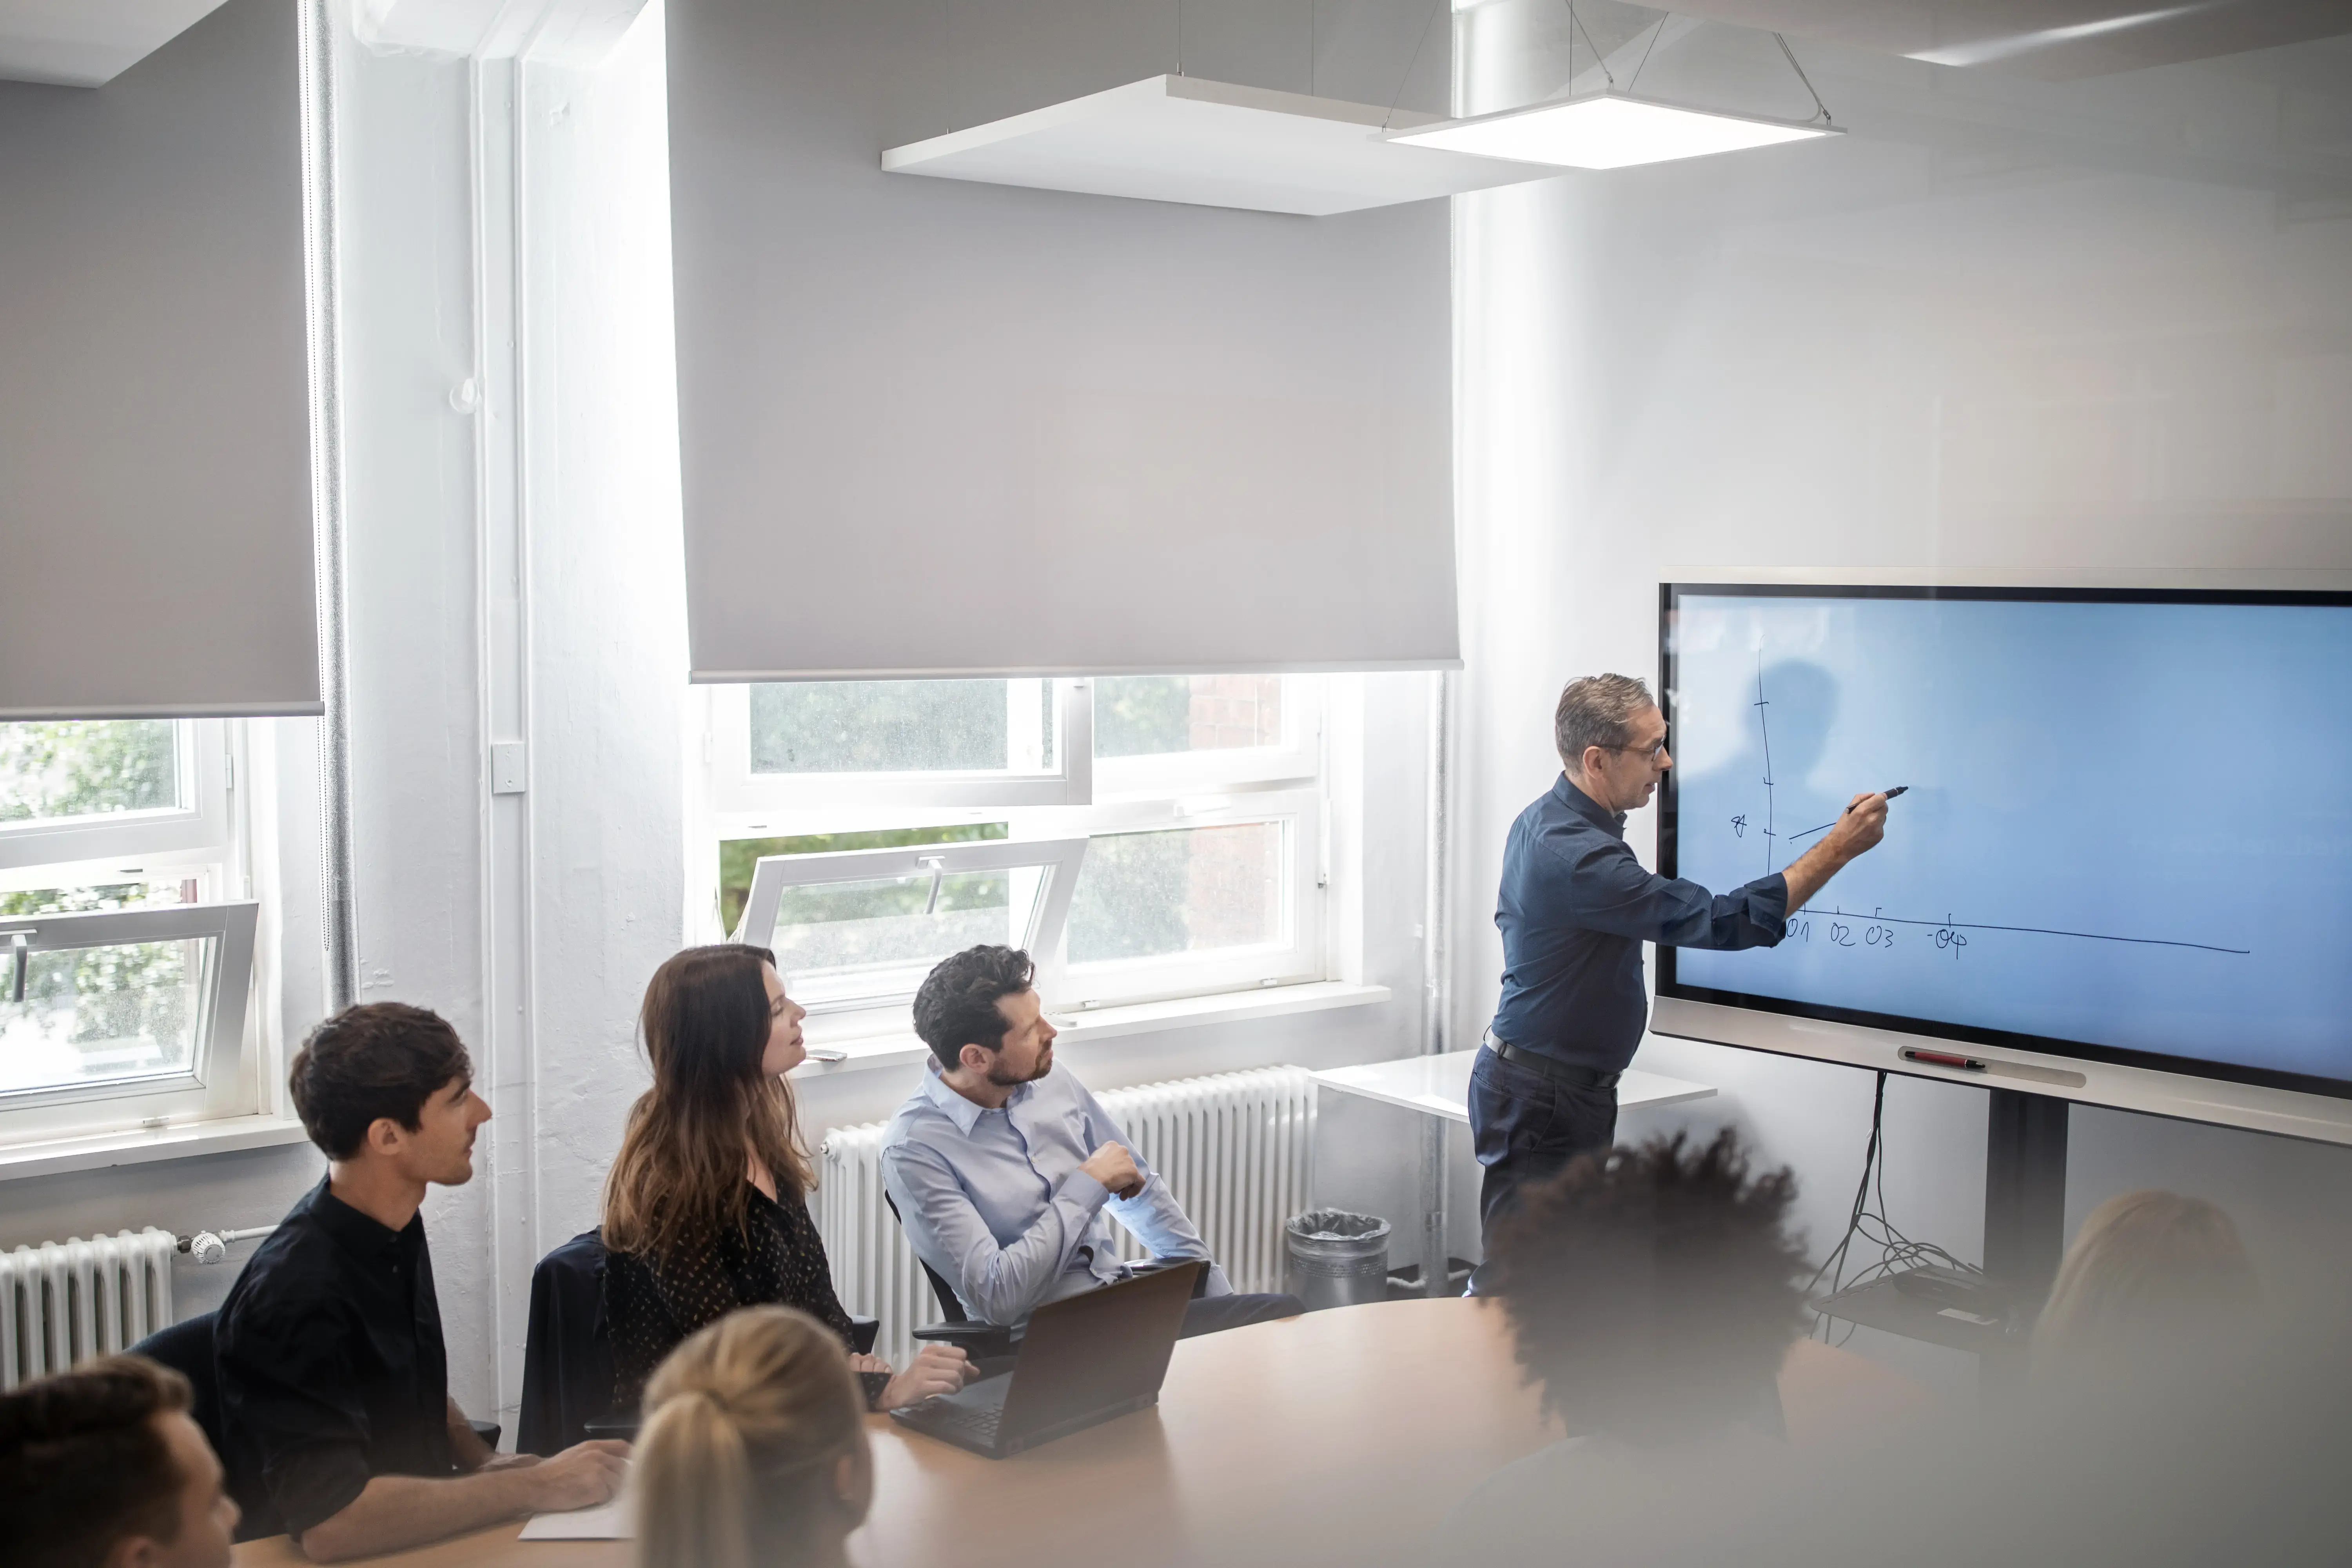
<svg viewBox="0 0 2352 1568">
<path fill-rule="evenodd" d="M 1054 952 L 1084 853 L 1084 839 L 1000 839 L 767 856 L 736 940 L 774 950 L 809 1011 L 896 1001 L 978 943 Z"/>
</svg>

